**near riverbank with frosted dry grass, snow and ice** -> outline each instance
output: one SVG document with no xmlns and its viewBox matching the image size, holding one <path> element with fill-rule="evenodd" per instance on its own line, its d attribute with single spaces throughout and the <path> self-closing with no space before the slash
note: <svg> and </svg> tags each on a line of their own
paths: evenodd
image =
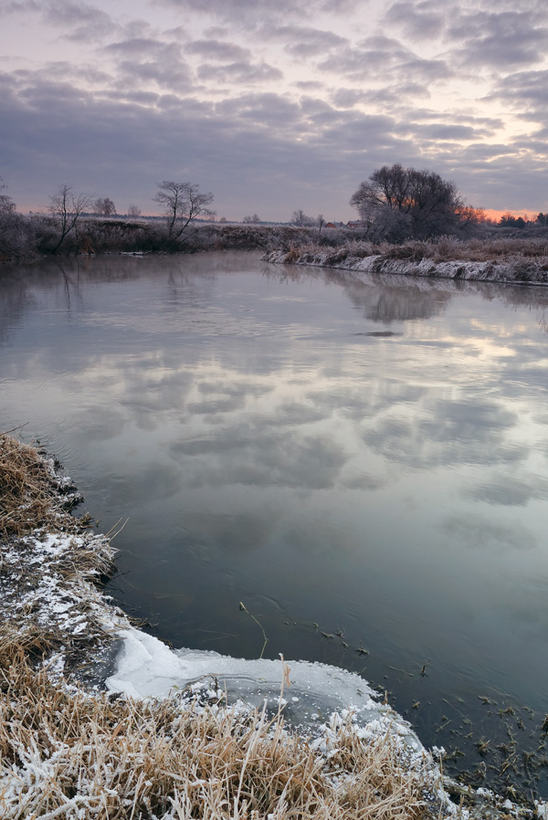
<svg viewBox="0 0 548 820">
<path fill-rule="evenodd" d="M 279 676 L 269 709 L 227 703 L 208 670 L 230 659 L 196 653 L 193 666 L 100 593 L 110 538 L 70 514 L 79 496 L 52 458 L 0 435 L 0 489 L 3 817 L 535 816 L 444 780 L 364 681 L 360 706 L 316 720 L 306 739 L 286 708 L 310 674 L 299 663 L 265 661 Z M 336 689 L 353 684 L 308 666 Z M 199 679 L 177 688 L 183 667 Z"/>
</svg>

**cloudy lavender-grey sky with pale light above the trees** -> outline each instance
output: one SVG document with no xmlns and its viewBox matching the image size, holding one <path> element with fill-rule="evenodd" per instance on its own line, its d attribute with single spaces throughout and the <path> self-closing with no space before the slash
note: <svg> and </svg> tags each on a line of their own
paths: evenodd
<svg viewBox="0 0 548 820">
<path fill-rule="evenodd" d="M 546 0 L 0 0 L 0 176 L 158 213 L 346 221 L 382 165 L 469 205 L 548 211 Z"/>
</svg>

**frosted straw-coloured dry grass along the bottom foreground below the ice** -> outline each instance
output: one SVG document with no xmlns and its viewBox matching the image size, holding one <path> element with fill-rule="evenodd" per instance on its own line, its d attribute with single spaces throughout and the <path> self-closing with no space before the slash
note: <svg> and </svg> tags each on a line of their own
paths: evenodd
<svg viewBox="0 0 548 820">
<path fill-rule="evenodd" d="M 20 636 L 0 640 L 0 810 L 129 820 L 413 820 L 427 816 L 424 773 L 406 771 L 390 734 L 360 741 L 333 726 L 327 754 L 278 714 L 91 697 L 29 664 Z"/>
</svg>

